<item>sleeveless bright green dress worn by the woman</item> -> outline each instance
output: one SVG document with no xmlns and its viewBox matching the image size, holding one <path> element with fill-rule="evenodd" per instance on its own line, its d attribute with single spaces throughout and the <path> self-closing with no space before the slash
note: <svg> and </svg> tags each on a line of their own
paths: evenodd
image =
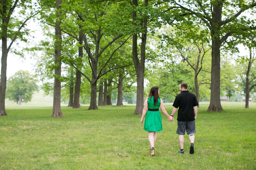
<svg viewBox="0 0 256 170">
<path fill-rule="evenodd" d="M 154 105 L 154 97 L 148 98 L 149 109 L 159 109 L 160 104 L 161 104 L 160 98 L 158 98 L 158 102 L 156 103 L 156 105 Z M 155 132 L 163 130 L 160 111 L 147 111 L 145 122 L 144 122 L 144 130 L 155 131 Z"/>
</svg>

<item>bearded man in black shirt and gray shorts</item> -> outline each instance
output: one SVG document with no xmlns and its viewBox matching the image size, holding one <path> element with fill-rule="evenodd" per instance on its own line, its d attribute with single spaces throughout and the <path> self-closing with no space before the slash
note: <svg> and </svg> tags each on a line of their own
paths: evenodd
<svg viewBox="0 0 256 170">
<path fill-rule="evenodd" d="M 186 83 L 181 83 L 179 85 L 181 93 L 176 96 L 173 102 L 172 106 L 174 106 L 174 108 L 171 114 L 173 117 L 179 108 L 177 118 L 178 129 L 176 133 L 179 134 L 179 145 L 181 147 L 181 150 L 179 151 L 180 154 L 184 154 L 183 145 L 185 130 L 187 131 L 191 143 L 189 153 L 194 154 L 194 133 L 196 133 L 195 119 L 197 116 L 197 106 L 199 104 L 197 103 L 196 96 L 193 93 L 190 93 L 187 89 L 188 85 Z"/>
</svg>

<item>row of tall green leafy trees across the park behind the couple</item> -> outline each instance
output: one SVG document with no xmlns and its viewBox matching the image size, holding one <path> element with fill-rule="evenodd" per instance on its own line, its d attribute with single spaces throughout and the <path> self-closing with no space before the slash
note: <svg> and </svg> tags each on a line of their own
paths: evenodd
<svg viewBox="0 0 256 170">
<path fill-rule="evenodd" d="M 182 56 L 183 61 L 194 70 L 197 98 L 199 86 L 210 84 L 211 101 L 208 111 L 222 111 L 219 98 L 221 50 L 237 52 L 238 43 L 245 44 L 248 39 L 253 41 L 256 28 L 253 17 L 248 17 L 255 9 L 254 1 L 40 0 L 34 4 L 33 1 L 6 0 L 1 5 L 0 115 L 6 115 L 4 99 L 7 54 L 17 38 L 27 41 L 25 37 L 29 30 L 24 26 L 34 16 L 41 22 L 48 39 L 26 50 L 35 55 L 38 51 L 44 53 L 38 58 L 37 75 L 44 82 L 46 92 L 54 90 L 52 117 L 64 116 L 60 108 L 61 87 L 64 85 L 69 85 L 71 98 L 74 88 L 73 108 L 79 108 L 82 77 L 89 82 L 86 86 L 91 88 L 89 109 L 98 109 L 97 90 L 99 96 L 102 96 L 102 83 L 106 80 L 112 82 L 119 78 L 119 96 L 126 77 L 130 77 L 127 81 L 129 90 L 136 80 L 137 102 L 134 114 L 142 114 L 145 71 L 155 74 L 156 70 L 150 73 L 150 70 L 145 70 L 145 66 L 148 64 L 155 68 L 158 61 L 167 56 L 171 57 L 168 57 L 167 62 L 162 62 L 166 71 L 160 71 L 163 77 L 160 83 L 168 85 L 184 80 L 181 75 L 187 72 L 182 67 L 168 65 L 170 62 L 177 64 L 177 56 Z M 13 14 L 15 8 L 19 9 L 20 16 Z M 247 14 L 245 11 L 248 11 Z M 164 31 L 165 27 L 168 30 Z M 159 43 L 154 46 L 157 48 L 150 46 L 148 37 L 158 37 Z M 10 42 L 8 48 L 7 40 Z M 255 47 L 251 42 L 250 49 Z M 191 51 L 196 56 L 195 61 L 190 60 Z M 13 52 L 22 55 L 21 52 Z M 211 52 L 208 58 L 207 52 Z M 211 68 L 203 68 L 204 59 L 211 61 Z M 253 60 L 251 56 L 249 62 Z M 248 76 L 250 69 L 251 65 L 248 66 Z M 118 76 L 112 76 L 113 72 Z M 168 81 L 168 72 L 179 74 L 172 77 L 171 82 Z M 198 80 L 202 72 L 206 74 Z M 248 79 L 246 82 L 249 85 L 253 80 Z M 166 86 L 165 90 L 167 92 L 171 89 Z M 70 102 L 72 104 L 71 99 Z"/>
</svg>

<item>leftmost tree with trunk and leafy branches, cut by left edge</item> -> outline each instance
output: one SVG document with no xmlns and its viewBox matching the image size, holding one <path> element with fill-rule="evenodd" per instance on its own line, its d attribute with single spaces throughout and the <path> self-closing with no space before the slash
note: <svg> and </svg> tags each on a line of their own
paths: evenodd
<svg viewBox="0 0 256 170">
<path fill-rule="evenodd" d="M 20 39 L 27 42 L 24 35 L 28 35 L 29 29 L 22 29 L 28 20 L 38 14 L 39 8 L 32 5 L 32 1 L 25 0 L 2 0 L 1 3 L 1 39 L 2 39 L 2 58 L 1 58 L 1 80 L 0 80 L 0 116 L 7 115 L 5 111 L 5 91 L 6 91 L 6 69 L 7 55 L 13 43 Z M 15 9 L 19 8 L 19 15 L 15 15 Z M 9 46 L 7 43 L 10 42 Z M 22 55 L 15 49 L 14 54 Z"/>
</svg>

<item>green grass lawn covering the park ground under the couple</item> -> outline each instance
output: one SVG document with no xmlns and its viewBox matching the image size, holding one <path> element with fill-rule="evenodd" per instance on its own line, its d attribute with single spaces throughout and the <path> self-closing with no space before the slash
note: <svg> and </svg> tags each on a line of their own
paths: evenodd
<svg viewBox="0 0 256 170">
<path fill-rule="evenodd" d="M 178 154 L 177 115 L 169 122 L 162 114 L 154 157 L 134 105 L 62 107 L 65 118 L 51 118 L 51 107 L 6 106 L 0 169 L 256 169 L 256 103 L 224 102 L 223 112 L 206 112 L 208 104 L 200 103 L 195 154 L 187 135 Z"/>
</svg>

